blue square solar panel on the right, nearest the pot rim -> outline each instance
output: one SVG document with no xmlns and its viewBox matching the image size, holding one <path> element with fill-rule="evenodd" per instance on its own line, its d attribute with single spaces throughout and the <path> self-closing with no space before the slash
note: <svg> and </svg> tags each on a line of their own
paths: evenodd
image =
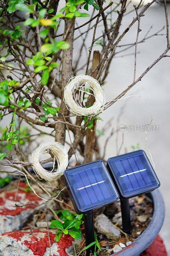
<svg viewBox="0 0 170 256">
<path fill-rule="evenodd" d="M 107 167 L 123 198 L 150 192 L 160 186 L 152 165 L 143 150 L 111 157 Z"/>
</svg>

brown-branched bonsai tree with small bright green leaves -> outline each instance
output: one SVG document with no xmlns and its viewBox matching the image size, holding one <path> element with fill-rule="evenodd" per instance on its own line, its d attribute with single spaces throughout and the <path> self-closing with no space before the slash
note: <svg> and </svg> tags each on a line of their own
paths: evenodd
<svg viewBox="0 0 170 256">
<path fill-rule="evenodd" d="M 40 137 L 49 135 L 51 141 L 67 144 L 68 159 L 77 163 L 101 159 L 96 122 L 100 115 L 77 116 L 64 103 L 64 88 L 70 78 L 79 74 L 89 75 L 99 81 L 103 91 L 112 60 L 134 24 L 138 24 L 135 43 L 122 45 L 122 51 L 134 50 L 133 82 L 104 106 L 109 108 L 124 96 L 156 65 L 167 56 L 170 49 L 168 17 L 165 6 L 166 39 L 162 54 L 136 76 L 137 45 L 147 44 L 146 35 L 138 40 L 140 20 L 156 0 L 143 5 L 131 1 L 108 2 L 103 0 L 11 0 L 0 2 L 0 159 L 22 171 L 18 179 L 38 184 L 49 198 L 52 196 L 45 185 L 30 171 L 30 156 L 40 144 Z M 127 6 L 131 5 L 131 23 L 120 33 Z M 133 18 L 134 17 L 134 18 Z M 100 33 L 100 36 L 96 36 Z M 92 35 L 92 41 L 88 36 Z M 73 52 L 75 42 L 81 37 L 82 44 Z M 82 55 L 87 53 L 85 61 Z M 85 107 L 92 106 L 92 93 L 84 93 Z M 42 127 L 47 127 L 42 129 Z M 66 135 L 69 140 L 66 140 Z M 50 152 L 49 152 L 50 153 Z M 81 156 L 81 158 L 79 157 Z M 53 161 L 54 156 L 40 163 Z M 79 160 L 83 159 L 83 160 Z M 7 170 L 1 171 L 8 173 Z M 62 182 L 61 182 L 62 183 Z M 63 186 L 59 183 L 59 188 Z M 60 188 L 60 189 L 61 189 Z M 55 191 L 55 189 L 54 189 Z M 60 199 L 60 200 L 59 200 Z M 56 199 L 64 203 L 62 196 Z"/>
</svg>

